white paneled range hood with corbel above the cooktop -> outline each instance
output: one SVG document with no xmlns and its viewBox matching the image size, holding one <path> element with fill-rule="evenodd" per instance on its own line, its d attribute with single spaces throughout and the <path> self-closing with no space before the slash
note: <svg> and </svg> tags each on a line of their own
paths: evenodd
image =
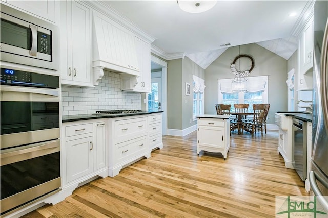
<svg viewBox="0 0 328 218">
<path fill-rule="evenodd" d="M 104 76 L 104 69 L 125 76 L 139 76 L 135 34 L 96 11 L 93 22 L 92 67 L 95 85 Z"/>
</svg>

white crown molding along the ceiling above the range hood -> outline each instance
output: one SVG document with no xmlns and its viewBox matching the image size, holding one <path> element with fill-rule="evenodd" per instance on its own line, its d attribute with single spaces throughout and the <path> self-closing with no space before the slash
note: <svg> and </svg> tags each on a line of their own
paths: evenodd
<svg viewBox="0 0 328 218">
<path fill-rule="evenodd" d="M 119 25 L 129 29 L 130 31 L 132 31 L 142 39 L 146 40 L 147 42 L 152 43 L 153 41 L 155 41 L 156 38 L 154 36 L 138 28 L 138 26 L 135 23 L 133 23 L 125 16 L 121 15 L 118 11 L 116 11 L 115 9 L 113 9 L 103 1 L 83 0 L 81 2 L 90 6 L 92 9 L 97 10 L 98 12 L 104 14 L 105 16 L 115 20 L 117 23 L 119 23 Z"/>
</svg>

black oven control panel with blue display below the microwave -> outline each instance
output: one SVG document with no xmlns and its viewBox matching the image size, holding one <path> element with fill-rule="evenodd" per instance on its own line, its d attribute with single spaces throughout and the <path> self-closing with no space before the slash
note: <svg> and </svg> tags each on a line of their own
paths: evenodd
<svg viewBox="0 0 328 218">
<path fill-rule="evenodd" d="M 58 76 L 9 68 L 1 68 L 0 82 L 2 85 L 59 88 Z"/>
</svg>

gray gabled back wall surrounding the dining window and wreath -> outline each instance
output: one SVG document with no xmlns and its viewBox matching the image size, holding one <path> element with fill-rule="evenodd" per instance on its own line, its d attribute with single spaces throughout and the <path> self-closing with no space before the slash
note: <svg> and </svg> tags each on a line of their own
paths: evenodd
<svg viewBox="0 0 328 218">
<path fill-rule="evenodd" d="M 278 110 L 287 110 L 287 60 L 264 49 L 255 43 L 240 46 L 240 54 L 250 54 L 255 67 L 251 76 L 269 75 L 268 103 L 270 111 L 268 124 L 274 124 L 274 114 Z M 230 47 L 205 70 L 205 113 L 216 114 L 218 103 L 218 79 L 234 78 L 230 65 L 238 56 L 238 46 Z"/>
</svg>

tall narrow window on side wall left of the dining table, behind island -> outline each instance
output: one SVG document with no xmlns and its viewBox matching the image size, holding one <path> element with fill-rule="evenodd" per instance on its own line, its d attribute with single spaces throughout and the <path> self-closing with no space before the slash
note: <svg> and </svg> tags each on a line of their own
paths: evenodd
<svg viewBox="0 0 328 218">
<path fill-rule="evenodd" d="M 204 114 L 205 81 L 193 75 L 193 119 Z"/>
</svg>

